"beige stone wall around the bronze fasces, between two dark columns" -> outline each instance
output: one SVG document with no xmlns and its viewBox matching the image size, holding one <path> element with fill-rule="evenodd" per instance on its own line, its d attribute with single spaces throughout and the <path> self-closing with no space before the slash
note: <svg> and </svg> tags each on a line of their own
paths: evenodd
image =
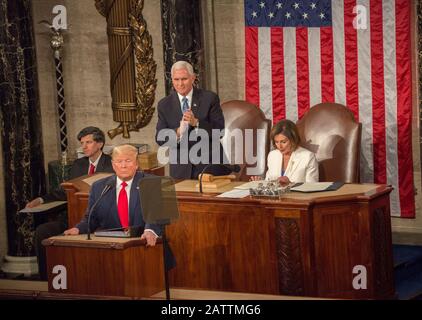
<svg viewBox="0 0 422 320">
<path fill-rule="evenodd" d="M 43 123 L 45 164 L 59 157 L 59 131 L 56 108 L 54 62 L 49 47 L 51 33 L 36 22 L 52 21 L 52 9 L 61 4 L 67 8 L 69 29 L 64 34 L 63 74 L 65 85 L 69 154 L 75 157 L 79 142 L 76 135 L 86 126 L 98 126 L 103 131 L 115 128 L 110 95 L 110 71 L 105 18 L 98 13 L 94 0 L 37 0 L 33 2 L 36 48 L 39 66 L 40 102 Z M 164 96 L 163 49 L 161 41 L 160 1 L 145 1 L 143 16 L 153 39 L 154 59 L 157 63 L 156 101 Z M 154 141 L 154 114 L 150 124 L 139 132 L 131 132 L 130 139 L 117 136 L 107 144 L 123 142 L 148 143 Z"/>
</svg>

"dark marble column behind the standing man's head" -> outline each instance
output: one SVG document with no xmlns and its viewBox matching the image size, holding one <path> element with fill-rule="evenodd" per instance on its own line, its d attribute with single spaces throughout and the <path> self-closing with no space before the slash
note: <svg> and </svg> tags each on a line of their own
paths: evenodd
<svg viewBox="0 0 422 320">
<path fill-rule="evenodd" d="M 203 87 L 201 1 L 161 0 L 166 94 L 172 89 L 171 66 L 178 60 L 192 64 L 196 85 Z"/>
</svg>

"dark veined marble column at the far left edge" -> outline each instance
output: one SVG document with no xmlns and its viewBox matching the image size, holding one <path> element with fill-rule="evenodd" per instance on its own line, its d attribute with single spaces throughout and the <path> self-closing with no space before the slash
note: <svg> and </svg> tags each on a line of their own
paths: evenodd
<svg viewBox="0 0 422 320">
<path fill-rule="evenodd" d="M 6 261 L 13 263 L 19 257 L 28 262 L 28 257 L 35 255 L 34 216 L 18 211 L 45 191 L 31 12 L 30 0 L 0 0 L 0 126 L 8 233 Z M 27 272 L 22 270 L 22 273 Z"/>
</svg>

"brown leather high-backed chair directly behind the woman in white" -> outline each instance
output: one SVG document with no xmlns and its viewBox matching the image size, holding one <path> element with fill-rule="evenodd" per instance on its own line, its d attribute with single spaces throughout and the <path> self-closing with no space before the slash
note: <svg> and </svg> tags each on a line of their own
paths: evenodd
<svg viewBox="0 0 422 320">
<path fill-rule="evenodd" d="M 320 103 L 297 122 L 302 146 L 316 154 L 320 181 L 359 182 L 362 124 L 344 105 Z"/>
</svg>

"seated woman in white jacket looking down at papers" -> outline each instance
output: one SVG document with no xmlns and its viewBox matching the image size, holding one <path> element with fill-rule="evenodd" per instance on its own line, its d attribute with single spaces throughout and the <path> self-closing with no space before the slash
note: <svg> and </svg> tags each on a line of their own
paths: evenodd
<svg viewBox="0 0 422 320">
<path fill-rule="evenodd" d="M 266 180 L 278 179 L 281 185 L 318 181 L 318 162 L 315 154 L 299 146 L 300 136 L 294 122 L 279 121 L 271 129 L 270 138 L 275 149 L 267 157 Z M 262 178 L 254 176 L 251 179 Z"/>
</svg>

